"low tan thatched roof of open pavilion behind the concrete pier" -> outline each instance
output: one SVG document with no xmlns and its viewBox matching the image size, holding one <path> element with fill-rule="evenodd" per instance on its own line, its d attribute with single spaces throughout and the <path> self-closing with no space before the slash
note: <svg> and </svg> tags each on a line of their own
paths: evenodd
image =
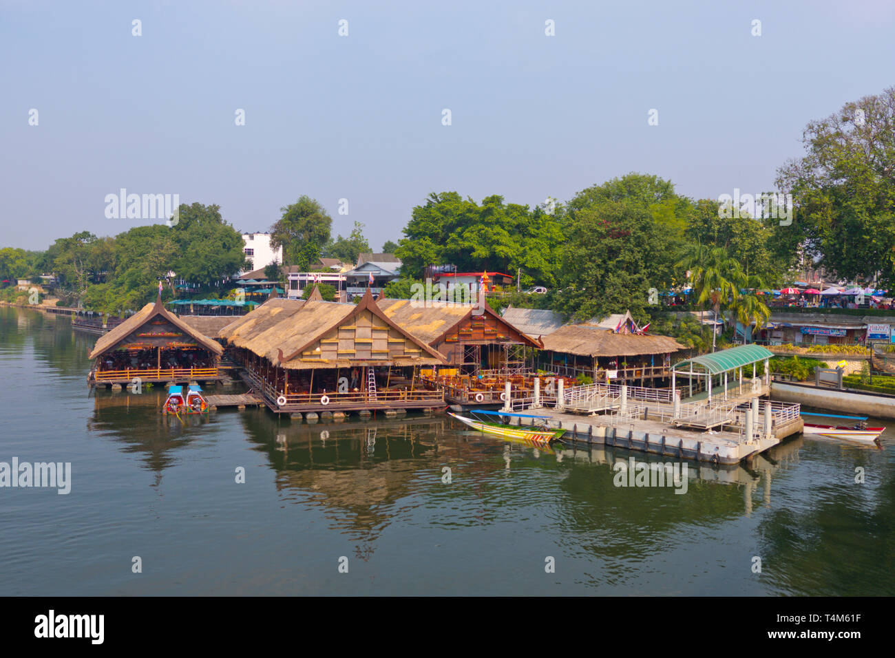
<svg viewBox="0 0 895 658">
<path fill-rule="evenodd" d="M 659 355 L 685 348 L 669 336 L 617 334 L 595 324 L 567 324 L 541 340 L 546 350 L 579 356 Z"/>
</svg>

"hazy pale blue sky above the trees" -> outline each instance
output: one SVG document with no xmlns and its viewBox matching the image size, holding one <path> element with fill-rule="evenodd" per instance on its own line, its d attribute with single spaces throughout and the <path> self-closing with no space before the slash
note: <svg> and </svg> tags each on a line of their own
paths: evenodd
<svg viewBox="0 0 895 658">
<path fill-rule="evenodd" d="M 309 194 L 375 249 L 429 192 L 760 192 L 809 120 L 895 84 L 893 27 L 892 0 L 0 0 L 0 244 L 148 223 L 105 217 L 123 187 L 251 231 Z"/>
</svg>

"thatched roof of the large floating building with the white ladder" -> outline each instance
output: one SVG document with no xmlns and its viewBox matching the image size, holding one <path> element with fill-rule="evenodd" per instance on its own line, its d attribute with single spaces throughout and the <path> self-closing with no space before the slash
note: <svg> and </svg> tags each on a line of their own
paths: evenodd
<svg viewBox="0 0 895 658">
<path fill-rule="evenodd" d="M 445 363 L 444 357 L 436 350 L 402 329 L 379 310 L 370 291 L 360 303 L 319 302 L 293 299 L 270 299 L 248 315 L 227 325 L 218 334 L 227 343 L 243 347 L 250 352 L 268 359 L 284 368 L 336 368 L 350 367 L 349 358 L 330 359 L 319 363 L 309 363 L 297 359 L 308 346 L 319 341 L 341 325 L 348 325 L 360 313 L 369 311 L 383 320 L 388 327 L 419 347 L 420 357 L 405 357 L 408 365 L 434 365 Z M 301 363 L 299 363 L 301 362 Z"/>
</svg>

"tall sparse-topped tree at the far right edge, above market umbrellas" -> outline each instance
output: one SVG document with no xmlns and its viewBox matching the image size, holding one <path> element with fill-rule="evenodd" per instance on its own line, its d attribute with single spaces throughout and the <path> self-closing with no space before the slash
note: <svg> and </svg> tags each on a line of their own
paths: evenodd
<svg viewBox="0 0 895 658">
<path fill-rule="evenodd" d="M 895 87 L 805 127 L 805 156 L 778 170 L 792 193 L 789 232 L 848 280 L 895 286 Z"/>
</svg>

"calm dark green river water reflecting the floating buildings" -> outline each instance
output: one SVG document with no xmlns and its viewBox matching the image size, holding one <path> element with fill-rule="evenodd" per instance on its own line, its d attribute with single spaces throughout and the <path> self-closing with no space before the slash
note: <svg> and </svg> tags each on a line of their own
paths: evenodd
<svg viewBox="0 0 895 658">
<path fill-rule="evenodd" d="M 882 450 L 797 439 L 751 471 L 691 463 L 678 495 L 613 485 L 640 453 L 539 452 L 441 415 L 183 424 L 158 389 L 88 397 L 95 340 L 0 308 L 0 461 L 72 463 L 68 495 L 0 489 L 0 594 L 895 590 L 895 423 Z"/>
</svg>

